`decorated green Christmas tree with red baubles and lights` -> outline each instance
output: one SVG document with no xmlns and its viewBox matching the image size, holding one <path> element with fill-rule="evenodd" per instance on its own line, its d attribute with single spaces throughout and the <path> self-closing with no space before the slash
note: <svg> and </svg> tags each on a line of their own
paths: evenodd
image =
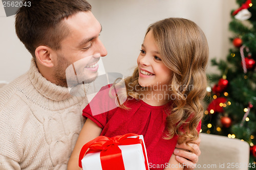
<svg viewBox="0 0 256 170">
<path fill-rule="evenodd" d="M 237 0 L 229 23 L 233 47 L 225 60 L 211 60 L 221 74 L 208 75 L 202 132 L 244 140 L 256 160 L 256 0 Z M 252 168 L 251 168 L 252 169 Z"/>
</svg>

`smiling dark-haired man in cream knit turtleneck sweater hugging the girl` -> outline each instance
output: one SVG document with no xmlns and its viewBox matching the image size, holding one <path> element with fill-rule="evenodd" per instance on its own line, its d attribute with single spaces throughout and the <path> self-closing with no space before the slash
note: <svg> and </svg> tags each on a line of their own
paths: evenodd
<svg viewBox="0 0 256 170">
<path fill-rule="evenodd" d="M 82 82 L 95 79 L 107 54 L 101 25 L 84 0 L 28 1 L 15 28 L 31 66 L 0 91 L 0 169 L 67 169 L 88 101 L 69 93 L 65 70 L 85 59 Z M 195 164 L 200 150 L 194 149 L 197 155 L 177 150 L 178 161 Z"/>
</svg>

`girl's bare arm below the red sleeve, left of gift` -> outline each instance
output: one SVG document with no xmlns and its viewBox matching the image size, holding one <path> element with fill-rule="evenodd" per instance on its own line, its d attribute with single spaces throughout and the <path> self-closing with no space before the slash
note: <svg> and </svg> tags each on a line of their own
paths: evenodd
<svg viewBox="0 0 256 170">
<path fill-rule="evenodd" d="M 88 118 L 86 120 L 86 123 L 84 123 L 83 125 L 83 128 L 76 141 L 75 148 L 69 159 L 68 170 L 82 169 L 78 166 L 78 158 L 79 158 L 80 150 L 82 149 L 84 144 L 98 137 L 101 131 L 102 129 L 98 127 L 98 125 L 96 125 L 91 119 Z"/>
</svg>

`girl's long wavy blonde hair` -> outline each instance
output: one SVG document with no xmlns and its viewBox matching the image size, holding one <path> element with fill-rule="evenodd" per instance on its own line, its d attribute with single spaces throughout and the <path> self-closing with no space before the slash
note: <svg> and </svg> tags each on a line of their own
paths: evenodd
<svg viewBox="0 0 256 170">
<path fill-rule="evenodd" d="M 166 118 L 166 138 L 178 135 L 178 143 L 188 143 L 199 137 L 197 126 L 203 117 L 208 61 L 206 37 L 195 22 L 184 18 L 157 21 L 148 27 L 146 34 L 150 31 L 163 63 L 173 72 L 169 92 L 176 99 Z M 137 67 L 133 75 L 125 79 L 128 98 L 140 99 L 139 91 L 136 91 L 138 77 Z"/>
</svg>

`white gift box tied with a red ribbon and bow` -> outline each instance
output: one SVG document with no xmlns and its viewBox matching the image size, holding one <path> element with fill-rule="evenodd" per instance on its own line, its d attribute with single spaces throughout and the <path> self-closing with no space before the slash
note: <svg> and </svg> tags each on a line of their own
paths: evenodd
<svg viewBox="0 0 256 170">
<path fill-rule="evenodd" d="M 83 170 L 148 170 L 143 136 L 99 136 L 82 147 L 79 166 Z"/>
</svg>

